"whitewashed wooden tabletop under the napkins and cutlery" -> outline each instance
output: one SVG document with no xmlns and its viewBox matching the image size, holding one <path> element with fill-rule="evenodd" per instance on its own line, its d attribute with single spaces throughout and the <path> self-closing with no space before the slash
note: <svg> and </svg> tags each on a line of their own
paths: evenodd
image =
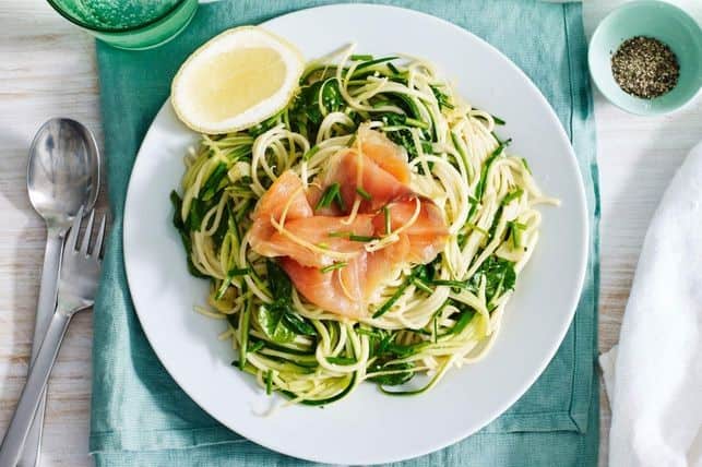
<svg viewBox="0 0 702 467">
<path fill-rule="evenodd" d="M 586 0 L 586 33 L 622 1 Z M 676 2 L 702 21 L 702 2 Z M 53 116 L 84 122 L 102 141 L 98 105 L 93 39 L 44 0 L 0 0 L 0 433 L 27 371 L 44 254 L 44 225 L 25 191 L 27 148 Z M 599 348 L 607 350 L 618 338 L 649 220 L 676 168 L 702 139 L 702 97 L 673 116 L 641 118 L 596 93 L 595 109 L 603 202 Z M 79 314 L 51 375 L 43 465 L 92 465 L 91 345 L 91 314 Z M 600 465 L 608 427 L 603 394 Z"/>
</svg>

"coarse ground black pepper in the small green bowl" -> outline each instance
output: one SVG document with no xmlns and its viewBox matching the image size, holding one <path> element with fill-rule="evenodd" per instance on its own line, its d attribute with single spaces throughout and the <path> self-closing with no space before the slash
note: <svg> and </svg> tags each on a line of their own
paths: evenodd
<svg viewBox="0 0 702 467">
<path fill-rule="evenodd" d="M 652 99 L 678 83 L 680 67 L 670 47 L 653 37 L 624 40 L 611 56 L 611 72 L 624 92 Z"/>
</svg>

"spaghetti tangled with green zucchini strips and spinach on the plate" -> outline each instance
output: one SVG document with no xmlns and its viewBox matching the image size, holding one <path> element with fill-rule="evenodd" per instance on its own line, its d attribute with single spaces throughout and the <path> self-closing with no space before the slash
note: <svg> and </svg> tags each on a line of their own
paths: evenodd
<svg viewBox="0 0 702 467">
<path fill-rule="evenodd" d="M 364 381 L 391 395 L 418 394 L 480 359 L 538 241 L 536 205 L 558 203 L 496 134 L 504 122 L 471 107 L 431 63 L 353 51 L 311 62 L 274 117 L 203 135 L 186 156 L 182 196 L 171 194 L 189 270 L 212 284 L 209 307 L 197 311 L 225 320 L 219 338 L 231 340 L 236 367 L 290 403 L 330 404 Z M 258 200 L 285 170 L 307 189 L 332 156 L 354 146 L 361 123 L 406 149 L 409 188 L 436 203 L 450 235 L 432 263 L 398 266 L 354 321 L 300 296 L 272 260 L 253 252 L 249 229 Z M 347 221 L 357 207 L 358 200 Z M 411 221 L 418 214 L 417 202 Z M 285 229 L 285 214 L 271 221 L 319 249 Z M 385 248 L 397 232 L 366 250 Z"/>
</svg>

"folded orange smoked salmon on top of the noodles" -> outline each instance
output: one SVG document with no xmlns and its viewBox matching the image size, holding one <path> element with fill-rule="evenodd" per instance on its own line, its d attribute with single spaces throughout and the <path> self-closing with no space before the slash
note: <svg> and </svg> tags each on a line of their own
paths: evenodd
<svg viewBox="0 0 702 467">
<path fill-rule="evenodd" d="M 291 170 L 282 173 L 254 209 L 249 240 L 278 259 L 308 301 L 355 319 L 401 267 L 431 262 L 449 237 L 439 207 L 409 188 L 404 148 L 365 127 L 357 142 L 332 156 L 307 190 Z M 338 195 L 320 206 L 328 190 Z"/>
</svg>

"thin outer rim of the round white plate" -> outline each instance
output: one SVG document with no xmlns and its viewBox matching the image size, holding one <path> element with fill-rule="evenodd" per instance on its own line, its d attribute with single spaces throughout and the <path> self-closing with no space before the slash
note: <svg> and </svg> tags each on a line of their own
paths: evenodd
<svg viewBox="0 0 702 467">
<path fill-rule="evenodd" d="M 448 436 L 443 442 L 437 443 L 430 450 L 426 450 L 426 448 L 424 448 L 424 450 L 413 450 L 412 446 L 407 446 L 406 450 L 403 452 L 403 454 L 400 454 L 400 455 L 382 455 L 382 454 L 379 455 L 377 453 L 372 453 L 372 454 L 366 455 L 364 457 L 359 457 L 359 458 L 362 458 L 362 462 L 359 462 L 359 463 L 354 462 L 355 464 L 394 463 L 394 462 L 407 460 L 407 459 L 415 458 L 415 457 L 418 457 L 418 456 L 421 456 L 421 455 L 426 455 L 426 454 L 429 454 L 429 453 L 432 453 L 432 452 L 437 452 L 439 450 L 442 450 L 442 448 L 445 448 L 445 447 L 448 447 L 450 445 L 453 445 L 453 444 L 466 439 L 467 436 L 471 436 L 471 435 L 475 434 L 481 428 L 484 428 L 485 426 L 489 424 L 490 422 L 492 422 L 493 420 L 499 418 L 502 414 L 504 414 L 504 411 L 507 409 L 509 409 L 516 400 L 519 400 L 524 395 L 524 393 L 526 393 L 526 391 L 528 391 L 528 388 L 543 374 L 544 370 L 546 369 L 548 363 L 552 360 L 552 358 L 555 357 L 558 348 L 560 347 L 561 343 L 563 342 L 563 339 L 566 337 L 566 334 L 568 333 L 568 330 L 570 328 L 570 326 L 571 326 L 571 324 L 573 322 L 573 318 L 574 318 L 575 311 L 578 309 L 578 303 L 580 302 L 580 298 L 582 296 L 582 290 L 583 290 L 583 287 L 584 287 L 584 282 L 585 282 L 585 277 L 586 277 L 586 271 L 587 271 L 587 264 L 588 264 L 588 259 L 590 259 L 590 253 L 591 253 L 591 251 L 590 251 L 590 249 L 591 249 L 591 231 L 587 228 L 587 226 L 590 225 L 590 218 L 588 218 L 588 208 L 587 208 L 587 202 L 586 202 L 586 195 L 585 195 L 585 185 L 584 185 L 584 182 L 583 182 L 583 173 L 582 173 L 582 170 L 580 169 L 580 166 L 578 164 L 578 159 L 576 159 L 575 152 L 574 152 L 574 148 L 572 146 L 572 143 L 571 143 L 570 139 L 568 137 L 568 134 L 566 133 L 566 130 L 564 130 L 563 125 L 561 124 L 560 120 L 556 116 L 556 112 L 555 112 L 552 106 L 550 105 L 548 99 L 546 99 L 546 97 L 540 92 L 538 86 L 536 86 L 536 84 L 528 77 L 528 75 L 520 67 L 517 67 L 502 51 L 497 49 L 495 46 L 492 46 L 487 40 L 483 39 L 481 37 L 477 36 L 476 34 L 472 33 L 471 31 L 465 29 L 465 28 L 463 28 L 463 27 L 461 27 L 461 26 L 459 26 L 456 24 L 453 24 L 453 23 L 447 21 L 447 20 L 443 20 L 443 19 L 438 17 L 438 16 L 433 16 L 431 14 L 428 14 L 428 13 L 425 13 L 425 12 L 421 12 L 421 11 L 417 11 L 417 10 L 413 10 L 413 9 L 408 9 L 408 8 L 396 7 L 396 5 L 374 4 L 374 3 L 336 3 L 336 4 L 326 4 L 326 5 L 318 5 L 318 7 L 305 8 L 305 9 L 295 10 L 295 11 L 291 11 L 291 12 L 288 12 L 288 13 L 285 13 L 285 14 L 278 15 L 278 16 L 274 16 L 274 17 L 269 19 L 269 20 L 266 20 L 266 21 L 264 21 L 262 23 L 259 23 L 257 25 L 261 26 L 261 27 L 267 27 L 272 23 L 275 23 L 277 21 L 285 21 L 285 20 L 289 19 L 290 16 L 295 16 L 295 15 L 299 15 L 299 14 L 310 14 L 311 11 L 323 12 L 323 11 L 326 11 L 326 10 L 344 10 L 344 9 L 360 9 L 360 10 L 377 10 L 377 11 L 390 10 L 390 11 L 395 11 L 395 12 L 402 13 L 402 14 L 420 16 L 425 21 L 430 21 L 430 22 L 436 23 L 437 26 L 439 26 L 439 27 L 443 27 L 443 28 L 448 27 L 448 28 L 455 29 L 460 34 L 469 36 L 472 38 L 472 40 L 477 40 L 477 41 L 481 43 L 481 45 L 487 47 L 491 51 L 492 55 L 495 55 L 498 59 L 502 60 L 505 64 L 508 64 L 510 67 L 510 69 L 512 69 L 512 71 L 516 72 L 516 74 L 519 74 L 521 76 L 521 79 L 526 83 L 526 85 L 528 87 L 531 87 L 535 92 L 535 96 L 544 104 L 545 108 L 548 109 L 547 112 L 546 112 L 548 115 L 548 118 L 551 120 L 552 123 L 555 123 L 555 127 L 557 128 L 558 136 L 566 143 L 566 146 L 568 147 L 568 157 L 567 157 L 568 164 L 571 165 L 573 167 L 574 171 L 579 175 L 578 181 L 576 181 L 578 187 L 576 187 L 576 190 L 575 190 L 575 192 L 576 192 L 576 202 L 578 202 L 578 205 L 580 207 L 580 211 L 582 211 L 582 213 L 584 214 L 583 216 L 581 216 L 582 221 L 581 221 L 581 226 L 580 226 L 581 227 L 581 235 L 582 235 L 582 238 L 583 238 L 583 249 L 582 249 L 581 254 L 579 256 L 579 263 L 580 264 L 579 264 L 578 277 L 575 279 L 575 282 L 578 284 L 576 290 L 572 294 L 572 297 L 571 297 L 571 300 L 570 300 L 570 303 L 569 303 L 569 307 L 568 307 L 568 313 L 563 313 L 564 315 L 568 314 L 568 319 L 563 320 L 562 325 L 558 331 L 558 338 L 552 340 L 552 344 L 551 344 L 551 346 L 549 348 L 549 351 L 544 355 L 544 358 L 542 359 L 537 370 L 534 371 L 531 374 L 530 378 L 524 380 L 524 382 L 519 387 L 519 390 L 514 392 L 513 397 L 505 399 L 503 402 L 503 404 L 499 407 L 499 409 L 495 410 L 492 416 L 483 417 L 483 419 L 479 422 L 475 423 L 477 426 L 477 428 L 475 428 L 475 429 L 471 428 L 471 429 L 461 430 L 461 431 L 456 430 L 456 434 L 454 434 L 453 436 Z M 277 452 L 277 453 L 282 453 L 282 454 L 289 455 L 289 456 L 293 456 L 293 457 L 296 457 L 296 458 L 311 460 L 311 462 L 337 464 L 338 463 L 337 458 L 328 457 L 325 455 L 318 455 L 317 453 L 296 452 L 295 450 L 287 448 L 287 446 L 283 447 L 278 443 L 272 442 L 271 440 L 264 440 L 264 439 L 261 439 L 261 438 L 259 438 L 257 435 L 249 435 L 249 434 L 246 433 L 246 431 L 247 431 L 246 428 L 242 428 L 242 427 L 237 427 L 237 429 L 235 430 L 234 428 L 230 427 L 229 423 L 227 423 L 224 420 L 222 420 L 221 417 L 218 417 L 217 414 L 205 409 L 206 404 L 201 403 L 201 400 L 199 400 L 198 396 L 194 396 L 193 394 L 191 394 L 191 392 L 186 390 L 187 384 L 183 385 L 181 383 L 181 381 L 179 381 L 179 376 L 177 374 L 175 374 L 175 372 L 170 371 L 170 369 L 166 364 L 165 361 L 167 359 L 164 356 L 162 356 L 162 351 L 157 347 L 152 345 L 152 342 L 154 342 L 154 339 L 151 337 L 151 331 L 146 326 L 143 325 L 142 314 L 139 311 L 140 308 L 136 306 L 136 300 L 134 299 L 134 295 L 132 294 L 130 276 L 132 276 L 133 273 L 130 274 L 130 266 L 129 266 L 130 261 L 128 260 L 128 254 L 127 254 L 127 252 L 128 252 L 128 248 L 127 248 L 128 240 L 127 240 L 127 235 L 126 234 L 129 230 L 128 229 L 128 224 L 131 225 L 131 223 L 128 221 L 128 219 L 131 217 L 128 213 L 131 212 L 130 206 L 133 205 L 133 203 L 134 203 L 134 201 L 132 201 L 130 203 L 130 201 L 132 200 L 132 196 L 130 196 L 130 194 L 133 193 L 133 191 L 132 191 L 132 180 L 134 178 L 133 177 L 134 172 L 138 171 L 138 167 L 139 167 L 139 163 L 140 163 L 140 157 L 139 156 L 142 153 L 142 149 L 144 147 L 144 143 L 148 140 L 150 134 L 154 131 L 154 123 L 158 120 L 160 115 L 167 109 L 168 106 L 170 106 L 170 96 L 168 96 L 166 98 L 166 100 L 164 101 L 162 107 L 158 109 L 156 116 L 154 117 L 154 119 L 150 123 L 148 130 L 144 134 L 144 137 L 143 137 L 141 144 L 139 145 L 139 149 L 136 152 L 136 156 L 135 156 L 135 159 L 134 159 L 132 171 L 130 173 L 129 182 L 128 182 L 128 185 L 127 185 L 127 194 L 126 194 L 126 199 L 124 199 L 123 215 L 122 215 L 122 240 L 121 240 L 121 247 L 122 247 L 122 254 L 123 254 L 123 261 L 124 261 L 124 273 L 126 273 L 128 289 L 129 289 L 130 298 L 132 300 L 134 312 L 135 312 L 136 316 L 139 318 L 140 325 L 141 325 L 141 327 L 142 327 L 142 330 L 144 332 L 144 335 L 146 336 L 148 345 L 154 350 L 154 354 L 158 358 L 159 363 L 168 372 L 170 378 L 174 379 L 176 384 L 178 384 L 178 386 L 183 391 L 183 393 L 186 393 L 186 395 L 188 397 L 190 397 L 210 417 L 212 417 L 215 420 L 217 420 L 219 423 L 222 423 L 228 430 L 231 430 L 234 433 L 239 434 L 245 440 L 251 441 L 251 442 L 253 442 L 255 444 L 259 444 L 259 445 L 261 445 L 263 447 L 266 447 L 266 448 L 272 450 L 272 451 Z"/>
</svg>

